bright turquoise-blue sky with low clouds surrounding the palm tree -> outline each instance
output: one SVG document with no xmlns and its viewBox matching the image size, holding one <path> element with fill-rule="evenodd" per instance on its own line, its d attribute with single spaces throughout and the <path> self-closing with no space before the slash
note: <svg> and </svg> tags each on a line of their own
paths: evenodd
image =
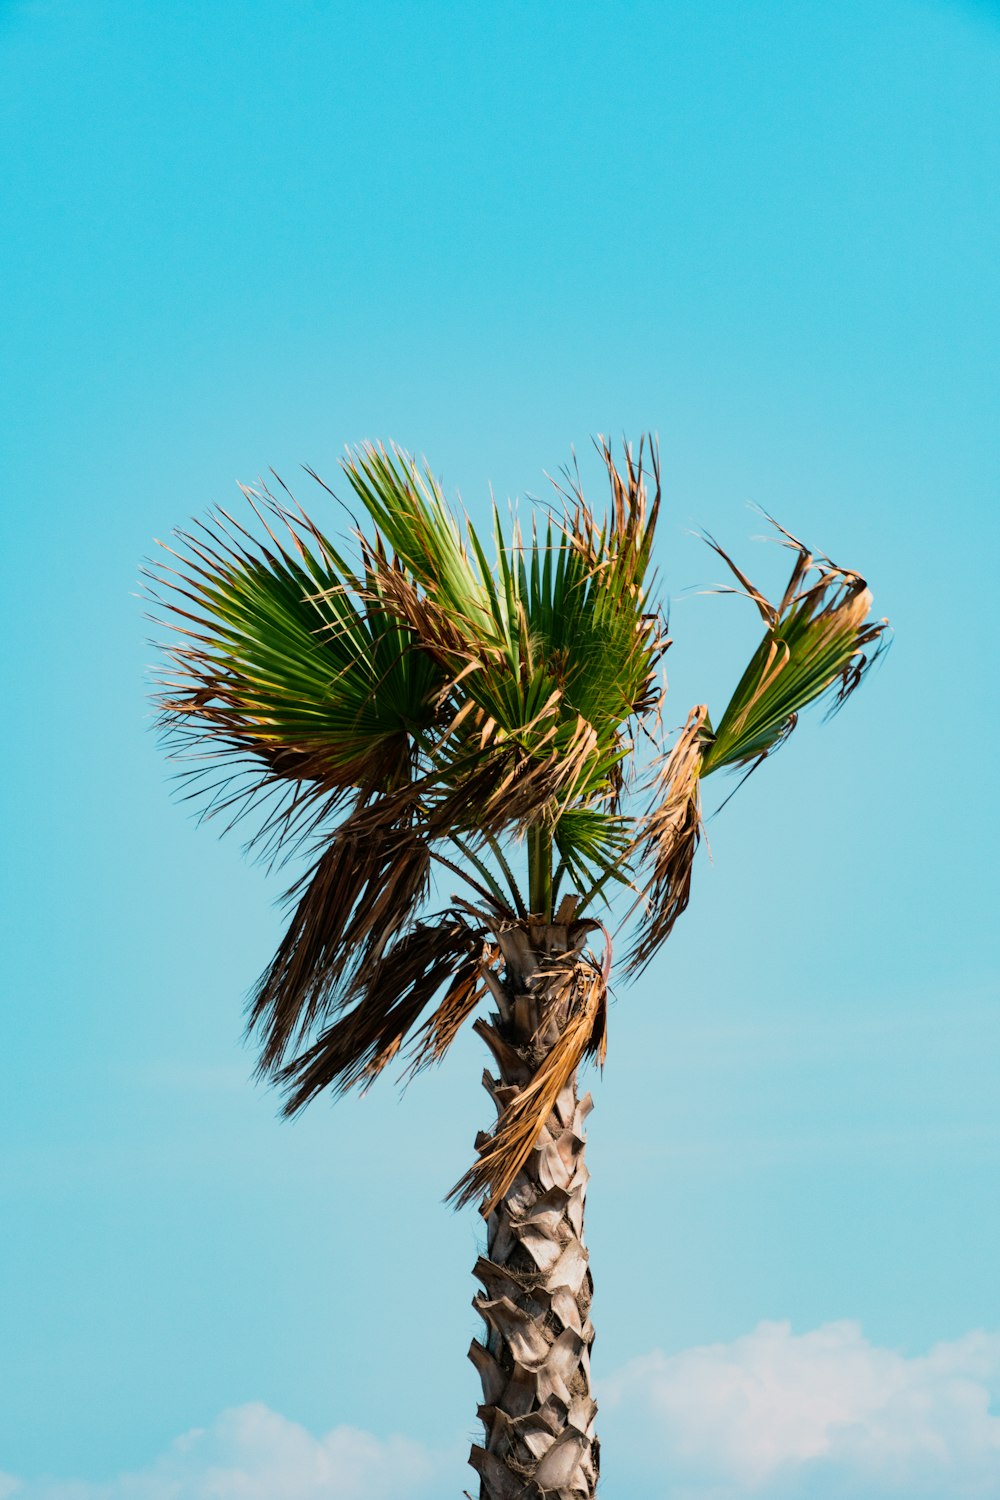
<svg viewBox="0 0 1000 1500">
<path fill-rule="evenodd" d="M 478 1042 L 276 1120 L 279 882 L 171 802 L 135 579 L 268 466 L 336 525 L 345 442 L 477 512 L 648 428 L 678 722 L 751 502 L 895 644 L 616 996 L 606 1496 L 1000 1492 L 999 86 L 987 3 L 0 3 L 4 1500 L 468 1484 Z"/>
</svg>

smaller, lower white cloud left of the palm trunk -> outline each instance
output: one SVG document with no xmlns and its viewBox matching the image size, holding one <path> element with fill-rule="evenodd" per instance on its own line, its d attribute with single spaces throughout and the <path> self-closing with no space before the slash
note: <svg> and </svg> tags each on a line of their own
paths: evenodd
<svg viewBox="0 0 1000 1500">
<path fill-rule="evenodd" d="M 148 1468 L 109 1484 L 0 1476 L 0 1500 L 409 1500 L 438 1464 L 405 1437 L 337 1426 L 313 1437 L 261 1402 L 223 1412 Z M 7 1479 L 13 1488 L 3 1488 Z"/>
</svg>

